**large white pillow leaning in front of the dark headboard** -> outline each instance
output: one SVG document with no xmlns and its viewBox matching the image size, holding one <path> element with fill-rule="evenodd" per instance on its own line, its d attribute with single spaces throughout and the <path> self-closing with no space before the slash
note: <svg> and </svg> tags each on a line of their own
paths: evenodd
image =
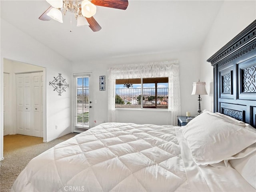
<svg viewBox="0 0 256 192">
<path fill-rule="evenodd" d="M 256 129 L 219 113 L 206 111 L 182 128 L 192 158 L 199 166 L 218 164 L 256 142 Z"/>
</svg>

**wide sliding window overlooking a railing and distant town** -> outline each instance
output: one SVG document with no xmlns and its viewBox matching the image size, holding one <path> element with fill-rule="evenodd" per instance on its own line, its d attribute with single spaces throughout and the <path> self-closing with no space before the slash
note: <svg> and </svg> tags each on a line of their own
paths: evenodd
<svg viewBox="0 0 256 192">
<path fill-rule="evenodd" d="M 125 87 L 124 84 L 132 84 Z M 116 108 L 168 108 L 168 77 L 116 80 Z"/>
</svg>

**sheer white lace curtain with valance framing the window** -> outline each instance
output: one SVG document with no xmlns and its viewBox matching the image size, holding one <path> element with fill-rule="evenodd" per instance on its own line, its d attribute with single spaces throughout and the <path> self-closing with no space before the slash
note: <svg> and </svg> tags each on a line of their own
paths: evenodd
<svg viewBox="0 0 256 192">
<path fill-rule="evenodd" d="M 168 77 L 168 123 L 177 125 L 180 114 L 180 80 L 178 61 L 112 66 L 108 69 L 108 121 L 116 122 L 116 79 Z"/>
</svg>

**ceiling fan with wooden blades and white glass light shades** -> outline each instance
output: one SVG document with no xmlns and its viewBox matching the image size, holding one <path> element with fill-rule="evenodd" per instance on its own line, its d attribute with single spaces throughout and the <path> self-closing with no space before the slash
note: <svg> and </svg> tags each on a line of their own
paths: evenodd
<svg viewBox="0 0 256 192">
<path fill-rule="evenodd" d="M 51 19 L 62 21 L 62 12 L 73 12 L 77 19 L 77 26 L 89 25 L 92 31 L 101 30 L 101 26 L 93 18 L 96 14 L 96 5 L 109 8 L 126 10 L 128 0 L 46 0 L 51 6 L 39 17 L 40 20 L 49 21 Z"/>
</svg>

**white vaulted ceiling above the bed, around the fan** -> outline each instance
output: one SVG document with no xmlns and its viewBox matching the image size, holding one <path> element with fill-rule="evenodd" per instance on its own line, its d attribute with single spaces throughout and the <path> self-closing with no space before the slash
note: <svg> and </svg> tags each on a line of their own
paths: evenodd
<svg viewBox="0 0 256 192">
<path fill-rule="evenodd" d="M 77 27 L 74 14 L 63 23 L 38 17 L 46 0 L 1 0 L 1 18 L 71 62 L 198 49 L 223 1 L 129 0 L 126 10 L 97 6 L 102 29 Z M 72 32 L 70 32 L 72 30 Z"/>
</svg>

